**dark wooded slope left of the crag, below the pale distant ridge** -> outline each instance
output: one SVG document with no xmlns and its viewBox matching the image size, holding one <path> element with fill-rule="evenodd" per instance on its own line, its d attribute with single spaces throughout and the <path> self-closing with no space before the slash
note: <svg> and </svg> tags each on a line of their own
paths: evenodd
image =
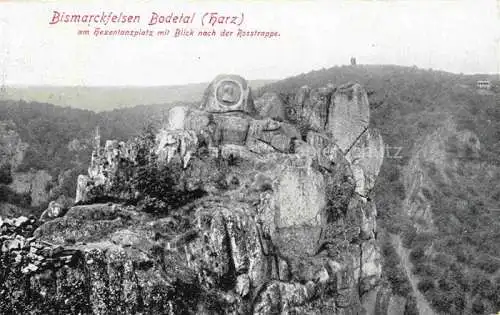
<svg viewBox="0 0 500 315">
<path fill-rule="evenodd" d="M 171 106 L 137 106 L 97 114 L 46 103 L 8 101 L 0 102 L 0 117 L 12 121 L 22 140 L 29 144 L 20 169 L 49 169 L 57 173 L 73 165 L 68 144 L 78 140 L 82 142 L 79 149 L 89 149 L 87 142 L 97 126 L 102 139 L 126 140 L 140 134 L 148 124 L 160 123 Z M 88 159 L 88 150 L 78 151 L 82 159 Z"/>
</svg>

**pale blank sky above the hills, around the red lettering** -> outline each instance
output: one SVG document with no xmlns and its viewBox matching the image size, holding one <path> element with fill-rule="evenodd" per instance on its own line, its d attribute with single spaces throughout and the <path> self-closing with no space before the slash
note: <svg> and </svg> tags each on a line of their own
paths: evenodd
<svg viewBox="0 0 500 315">
<path fill-rule="evenodd" d="M 49 24 L 54 11 L 123 12 L 139 23 Z M 191 24 L 148 25 L 153 12 Z M 205 13 L 241 25 L 202 26 Z M 230 19 L 231 20 L 231 19 Z M 7 85 L 178 85 L 219 73 L 280 79 L 348 64 L 397 64 L 454 73 L 500 72 L 500 2 L 456 1 L 2 1 L 0 79 Z M 94 36 L 176 28 L 279 32 L 275 38 Z M 78 35 L 89 30 L 89 35 Z"/>
</svg>

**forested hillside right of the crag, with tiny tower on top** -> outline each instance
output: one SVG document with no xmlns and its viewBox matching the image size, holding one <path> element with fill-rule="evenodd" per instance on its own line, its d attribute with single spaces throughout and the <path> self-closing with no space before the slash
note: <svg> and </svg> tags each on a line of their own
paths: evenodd
<svg viewBox="0 0 500 315">
<path fill-rule="evenodd" d="M 476 80 L 491 80 L 491 91 Z M 391 238 L 410 251 L 412 280 L 435 311 L 500 309 L 500 94 L 498 77 L 398 66 L 335 67 L 265 86 L 362 83 L 371 124 L 386 143 L 375 188 L 385 273 L 395 293 L 410 286 Z M 385 233 L 384 233 L 385 231 Z M 384 236 L 385 234 L 385 236 Z M 402 253 L 399 253 L 402 254 Z"/>
</svg>

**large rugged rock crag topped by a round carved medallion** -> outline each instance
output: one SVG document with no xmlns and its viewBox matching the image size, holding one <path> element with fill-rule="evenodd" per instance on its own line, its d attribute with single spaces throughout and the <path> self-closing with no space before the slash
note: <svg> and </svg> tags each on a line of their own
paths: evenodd
<svg viewBox="0 0 500 315">
<path fill-rule="evenodd" d="M 384 150 L 366 92 L 251 95 L 219 76 L 150 142 L 97 138 L 76 206 L 2 222 L 0 313 L 374 314 Z M 133 182 L 145 156 L 178 175 L 164 211 Z"/>
</svg>

